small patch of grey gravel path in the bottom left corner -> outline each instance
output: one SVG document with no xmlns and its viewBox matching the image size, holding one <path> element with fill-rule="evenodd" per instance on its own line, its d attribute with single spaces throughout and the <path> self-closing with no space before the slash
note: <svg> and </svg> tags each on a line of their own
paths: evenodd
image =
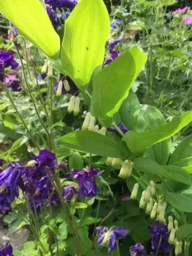
<svg viewBox="0 0 192 256">
<path fill-rule="evenodd" d="M 8 229 L 0 229 L 0 244 L 10 242 L 13 246 L 13 250 L 20 250 L 22 245 L 27 242 L 29 231 L 26 228 L 21 228 L 14 234 L 9 234 Z"/>
</svg>

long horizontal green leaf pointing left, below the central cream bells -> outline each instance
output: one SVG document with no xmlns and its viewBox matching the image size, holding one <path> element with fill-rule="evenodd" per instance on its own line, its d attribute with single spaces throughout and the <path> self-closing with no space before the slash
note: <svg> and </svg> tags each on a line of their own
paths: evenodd
<svg viewBox="0 0 192 256">
<path fill-rule="evenodd" d="M 69 148 L 99 156 L 124 158 L 126 154 L 121 143 L 92 131 L 70 132 L 58 141 Z"/>
</svg>

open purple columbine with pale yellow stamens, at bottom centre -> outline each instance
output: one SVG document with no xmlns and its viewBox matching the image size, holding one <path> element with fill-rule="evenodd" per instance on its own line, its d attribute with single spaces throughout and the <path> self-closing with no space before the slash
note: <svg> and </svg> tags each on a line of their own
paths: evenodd
<svg viewBox="0 0 192 256">
<path fill-rule="evenodd" d="M 129 230 L 121 227 L 108 229 L 100 226 L 97 227 L 96 231 L 99 235 L 97 239 L 98 246 L 107 246 L 109 253 L 116 249 L 119 238 L 124 238 L 129 234 Z"/>
</svg>

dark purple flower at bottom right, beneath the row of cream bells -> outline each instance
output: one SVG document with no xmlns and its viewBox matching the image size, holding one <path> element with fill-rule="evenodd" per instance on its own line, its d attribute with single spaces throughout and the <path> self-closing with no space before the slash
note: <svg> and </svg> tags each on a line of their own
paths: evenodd
<svg viewBox="0 0 192 256">
<path fill-rule="evenodd" d="M 170 232 L 166 225 L 156 221 L 155 225 L 150 225 L 149 230 L 151 233 L 151 247 L 153 250 L 157 250 L 159 242 L 159 252 L 170 252 L 171 246 L 168 243 Z M 161 241 L 160 241 L 161 240 Z"/>
</svg>

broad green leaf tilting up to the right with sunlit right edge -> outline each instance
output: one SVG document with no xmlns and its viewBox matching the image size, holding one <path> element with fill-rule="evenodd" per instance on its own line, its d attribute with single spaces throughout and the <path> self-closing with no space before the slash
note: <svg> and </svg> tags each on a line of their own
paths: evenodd
<svg viewBox="0 0 192 256">
<path fill-rule="evenodd" d="M 117 113 L 146 60 L 147 55 L 134 46 L 93 77 L 93 116 L 112 118 Z"/>
</svg>

